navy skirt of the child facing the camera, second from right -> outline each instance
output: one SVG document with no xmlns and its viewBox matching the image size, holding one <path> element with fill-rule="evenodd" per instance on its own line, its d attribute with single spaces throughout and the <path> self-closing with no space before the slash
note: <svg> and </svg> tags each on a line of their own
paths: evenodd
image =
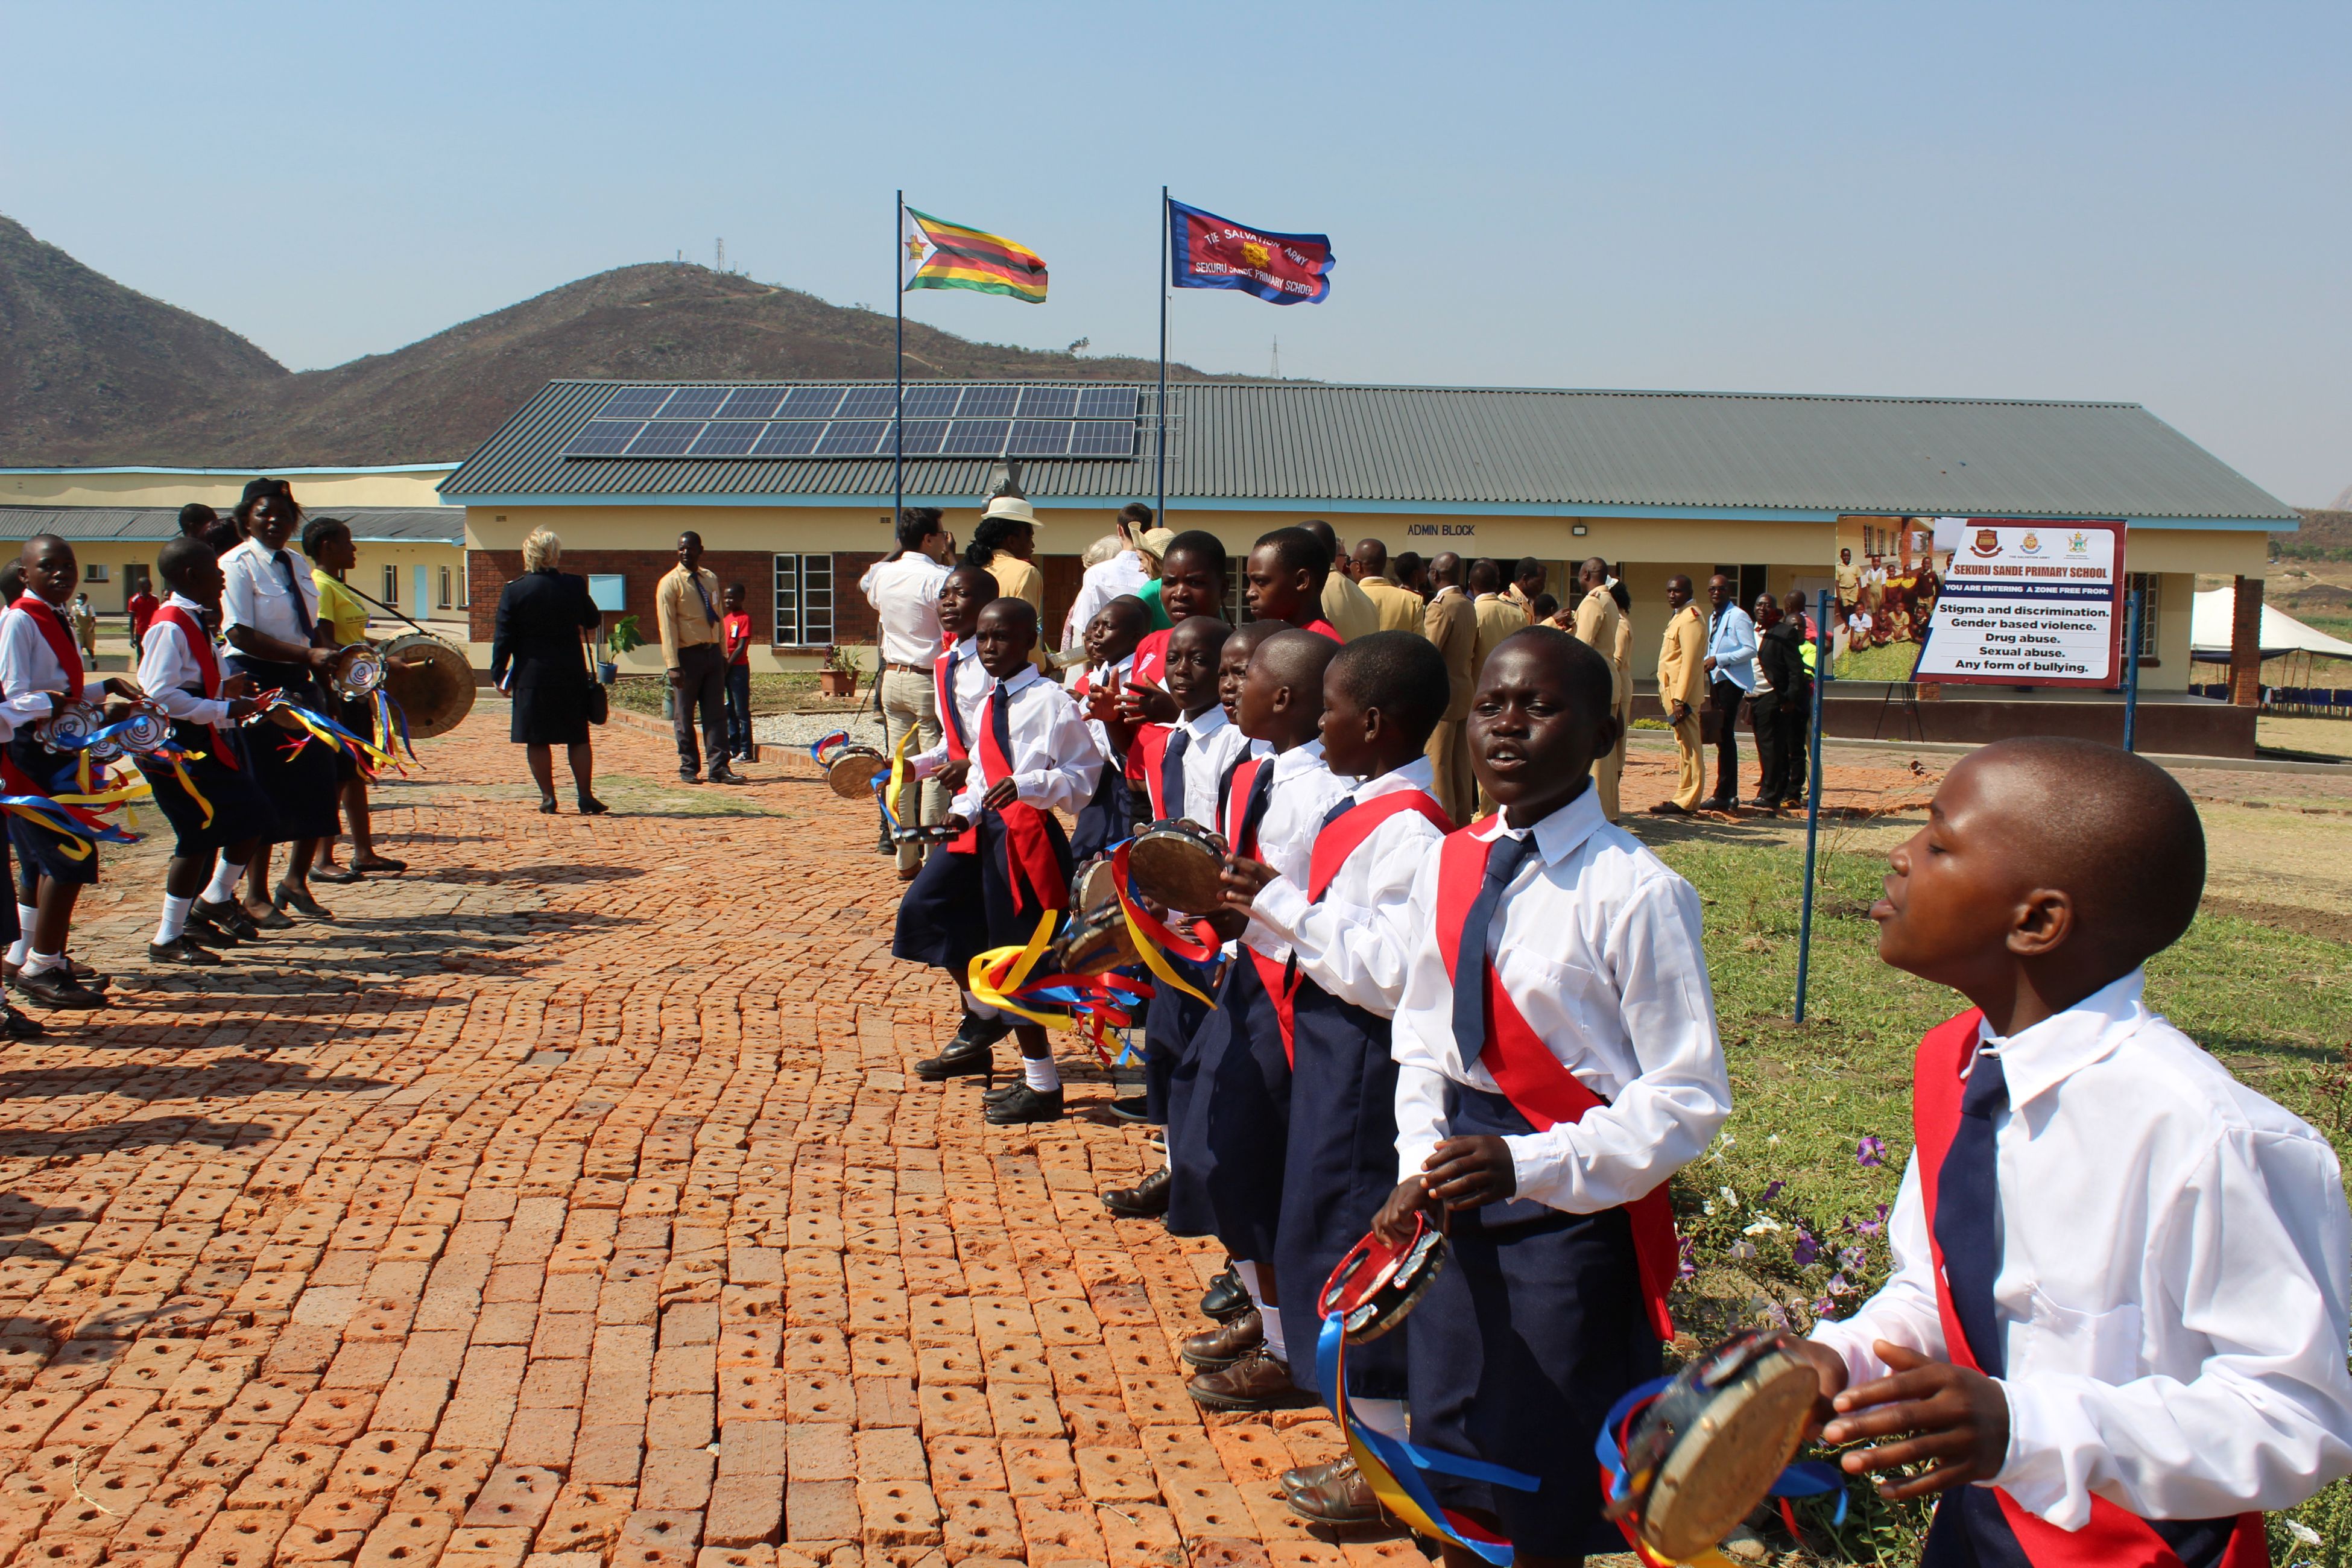
<svg viewBox="0 0 2352 1568">
<path fill-rule="evenodd" d="M 1456 1138 L 1534 1131 L 1503 1095 L 1449 1086 L 1446 1100 Z M 1456 1213 L 1404 1361 L 1414 1443 L 1543 1481 L 1519 1493 L 1430 1474 L 1439 1502 L 1477 1509 L 1519 1552 L 1625 1549 L 1602 1519 L 1592 1439 L 1609 1406 L 1661 1366 L 1625 1211 L 1512 1199 Z"/>
</svg>

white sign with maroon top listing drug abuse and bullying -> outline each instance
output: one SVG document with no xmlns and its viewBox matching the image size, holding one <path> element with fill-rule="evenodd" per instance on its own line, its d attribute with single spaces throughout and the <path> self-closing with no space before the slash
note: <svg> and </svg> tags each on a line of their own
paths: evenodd
<svg viewBox="0 0 2352 1568">
<path fill-rule="evenodd" d="M 1938 517 L 1950 552 L 1915 682 L 2107 686 L 2124 670 L 2124 524 Z"/>
</svg>

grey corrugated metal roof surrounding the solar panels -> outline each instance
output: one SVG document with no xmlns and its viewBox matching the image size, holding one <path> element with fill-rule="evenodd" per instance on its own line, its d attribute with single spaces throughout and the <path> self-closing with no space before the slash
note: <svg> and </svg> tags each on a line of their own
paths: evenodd
<svg viewBox="0 0 2352 1568">
<path fill-rule="evenodd" d="M 564 458 L 619 386 L 550 381 L 442 482 L 470 496 L 880 496 L 882 458 Z M 842 383 L 811 383 L 842 386 Z M 870 386 L 870 383 L 868 383 Z M 1042 501 L 1152 494 L 1138 456 L 1040 458 Z M 981 496 L 988 458 L 908 458 L 908 496 Z M 1171 501 L 2199 517 L 2296 512 L 2131 402 L 1576 393 L 1322 383 L 1169 388 Z"/>
</svg>

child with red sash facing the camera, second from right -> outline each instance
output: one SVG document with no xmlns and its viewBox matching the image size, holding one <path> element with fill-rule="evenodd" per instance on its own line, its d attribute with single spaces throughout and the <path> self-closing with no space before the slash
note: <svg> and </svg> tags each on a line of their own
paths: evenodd
<svg viewBox="0 0 2352 1568">
<path fill-rule="evenodd" d="M 1677 1269 L 1665 1182 L 1705 1152 L 1731 1088 L 1698 893 L 1602 818 L 1609 663 L 1552 628 L 1503 639 L 1468 743 L 1501 811 L 1414 882 L 1390 1039 L 1402 1180 L 1376 1229 L 1402 1239 L 1416 1208 L 1449 1222 L 1406 1331 L 1411 1441 L 1536 1476 L 1425 1479 L 1541 1568 L 1623 1549 L 1590 1441 L 1658 1373 Z M 1449 1544 L 1446 1561 L 1475 1559 Z"/>
</svg>

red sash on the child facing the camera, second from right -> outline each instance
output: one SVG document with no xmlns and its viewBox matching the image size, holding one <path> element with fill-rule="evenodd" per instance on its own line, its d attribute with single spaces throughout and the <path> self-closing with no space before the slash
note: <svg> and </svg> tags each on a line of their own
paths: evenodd
<svg viewBox="0 0 2352 1568">
<path fill-rule="evenodd" d="M 1472 835 L 1472 827 L 1461 827 L 1446 835 L 1444 849 L 1437 851 L 1437 952 L 1446 961 L 1446 978 L 1456 985 L 1461 985 L 1454 966 L 1463 924 L 1470 919 L 1470 905 L 1477 903 L 1479 884 L 1486 879 L 1486 839 Z M 1583 1121 L 1585 1112 L 1606 1105 L 1559 1065 L 1559 1058 L 1496 980 L 1491 959 L 1484 985 L 1486 1044 L 1479 1051 L 1479 1063 L 1494 1074 L 1494 1086 L 1503 1091 L 1503 1098 L 1538 1133 L 1564 1121 Z M 1675 1321 L 1665 1312 L 1665 1293 L 1675 1286 L 1682 1253 L 1675 1244 L 1675 1204 L 1668 1197 L 1668 1185 L 1658 1182 L 1623 1208 L 1632 1222 L 1632 1251 L 1642 1274 L 1642 1305 L 1649 1312 L 1649 1326 L 1661 1340 L 1672 1340 Z"/>
</svg>

